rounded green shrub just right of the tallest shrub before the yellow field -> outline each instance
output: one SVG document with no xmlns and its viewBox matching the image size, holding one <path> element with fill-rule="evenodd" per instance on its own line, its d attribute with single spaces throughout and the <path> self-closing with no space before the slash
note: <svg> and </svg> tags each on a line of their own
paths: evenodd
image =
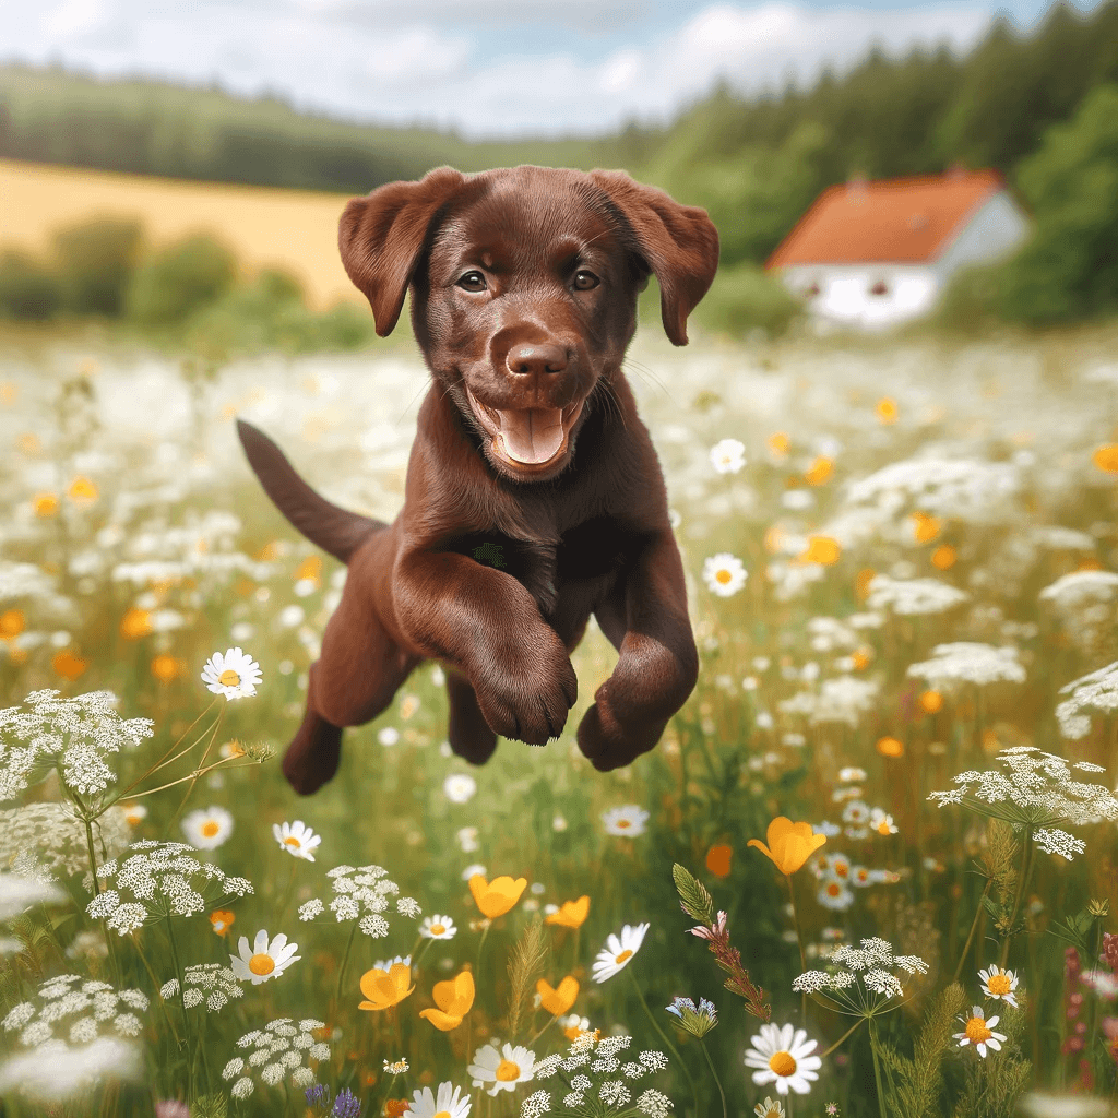
<svg viewBox="0 0 1118 1118">
<path fill-rule="evenodd" d="M 174 325 L 212 305 L 234 284 L 237 262 L 220 241 L 200 234 L 152 255 L 127 292 L 127 315 L 149 326 Z"/>
</svg>

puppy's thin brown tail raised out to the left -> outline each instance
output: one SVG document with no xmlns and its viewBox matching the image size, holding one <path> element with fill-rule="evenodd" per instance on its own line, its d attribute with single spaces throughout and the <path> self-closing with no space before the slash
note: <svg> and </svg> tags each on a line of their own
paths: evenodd
<svg viewBox="0 0 1118 1118">
<path fill-rule="evenodd" d="M 283 451 L 259 428 L 237 420 L 237 434 L 248 464 L 260 480 L 264 492 L 303 536 L 342 562 L 378 528 L 382 520 L 347 512 L 320 496 L 295 473 Z"/>
</svg>

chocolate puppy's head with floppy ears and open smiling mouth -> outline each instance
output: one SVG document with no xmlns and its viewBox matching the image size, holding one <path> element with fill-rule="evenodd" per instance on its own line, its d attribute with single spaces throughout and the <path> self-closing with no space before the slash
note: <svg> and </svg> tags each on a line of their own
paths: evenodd
<svg viewBox="0 0 1118 1118">
<path fill-rule="evenodd" d="M 439 168 L 353 199 L 339 247 L 382 338 L 410 286 L 428 367 L 493 467 L 521 482 L 567 465 L 595 386 L 620 368 L 650 274 L 667 337 L 684 345 L 718 268 L 707 212 L 620 171 Z"/>
</svg>

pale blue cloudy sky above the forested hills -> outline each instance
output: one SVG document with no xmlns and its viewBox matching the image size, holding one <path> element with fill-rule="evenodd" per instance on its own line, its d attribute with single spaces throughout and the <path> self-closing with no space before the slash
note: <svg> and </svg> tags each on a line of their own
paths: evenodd
<svg viewBox="0 0 1118 1118">
<path fill-rule="evenodd" d="M 1090 11 L 1091 0 L 1077 7 Z M 720 77 L 746 92 L 843 72 L 872 42 L 963 53 L 1039 0 L 0 0 L 0 58 L 217 80 L 301 108 L 466 135 L 595 133 L 664 121 Z"/>
</svg>

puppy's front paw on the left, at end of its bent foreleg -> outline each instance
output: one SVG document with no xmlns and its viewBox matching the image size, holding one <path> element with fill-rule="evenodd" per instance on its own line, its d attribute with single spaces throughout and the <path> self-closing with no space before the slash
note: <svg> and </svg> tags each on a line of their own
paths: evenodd
<svg viewBox="0 0 1118 1118">
<path fill-rule="evenodd" d="M 556 643 L 551 655 L 534 663 L 490 669 L 474 679 L 477 705 L 494 733 L 531 746 L 546 745 L 562 733 L 567 714 L 578 701 L 578 676 L 562 642 L 556 637 Z"/>
</svg>

